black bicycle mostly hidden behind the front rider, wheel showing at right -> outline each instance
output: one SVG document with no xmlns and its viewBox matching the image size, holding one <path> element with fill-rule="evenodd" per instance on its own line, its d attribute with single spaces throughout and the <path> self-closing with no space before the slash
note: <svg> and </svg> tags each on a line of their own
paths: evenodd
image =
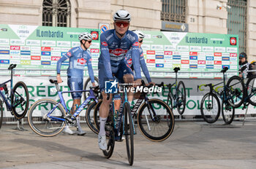
<svg viewBox="0 0 256 169">
<path fill-rule="evenodd" d="M 142 81 L 143 87 L 146 84 Z M 156 84 L 156 86 L 163 87 L 163 83 Z M 140 98 L 135 103 L 131 109 L 132 119 L 137 118 L 135 124 L 138 123 L 140 132 L 150 141 L 164 141 L 170 137 L 174 129 L 174 116 L 170 107 L 164 101 L 157 98 L 148 98 L 148 93 L 140 93 Z M 94 133 L 99 133 L 99 106 L 102 101 L 97 103 L 97 106 L 92 110 L 94 111 L 94 121 L 96 127 L 91 127 L 96 129 L 93 130 Z M 91 106 L 92 107 L 92 106 Z M 120 111 L 122 106 L 120 108 Z M 91 111 L 89 107 L 87 111 Z"/>
</svg>

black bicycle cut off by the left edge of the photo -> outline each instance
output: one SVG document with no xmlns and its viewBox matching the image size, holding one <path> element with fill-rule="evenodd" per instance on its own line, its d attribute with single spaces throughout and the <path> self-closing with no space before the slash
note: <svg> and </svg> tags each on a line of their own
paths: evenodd
<svg viewBox="0 0 256 169">
<path fill-rule="evenodd" d="M 13 68 L 16 64 L 11 64 L 8 70 L 11 71 L 11 79 L 7 82 L 0 84 L 0 127 L 3 121 L 3 103 L 5 103 L 7 111 L 11 111 L 15 119 L 22 119 L 26 115 L 29 108 L 29 91 L 24 82 L 17 82 L 12 88 Z M 7 84 L 10 82 L 10 89 L 8 90 Z M 10 92 L 9 92 L 10 91 Z"/>
</svg>

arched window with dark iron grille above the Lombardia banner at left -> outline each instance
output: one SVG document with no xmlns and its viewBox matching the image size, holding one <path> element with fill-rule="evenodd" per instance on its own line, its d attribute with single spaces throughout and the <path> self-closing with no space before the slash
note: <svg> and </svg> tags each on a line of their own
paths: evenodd
<svg viewBox="0 0 256 169">
<path fill-rule="evenodd" d="M 69 0 L 44 0 L 42 2 L 42 25 L 70 26 Z"/>
</svg>

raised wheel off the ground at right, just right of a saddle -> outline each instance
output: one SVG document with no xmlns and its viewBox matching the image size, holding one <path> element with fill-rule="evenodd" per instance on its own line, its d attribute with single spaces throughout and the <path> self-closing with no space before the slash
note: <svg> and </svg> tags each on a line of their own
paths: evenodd
<svg viewBox="0 0 256 169">
<path fill-rule="evenodd" d="M 238 108 L 244 103 L 244 82 L 239 76 L 232 76 L 227 81 L 227 89 L 226 89 L 226 97 L 227 101 L 234 108 Z"/>
</svg>

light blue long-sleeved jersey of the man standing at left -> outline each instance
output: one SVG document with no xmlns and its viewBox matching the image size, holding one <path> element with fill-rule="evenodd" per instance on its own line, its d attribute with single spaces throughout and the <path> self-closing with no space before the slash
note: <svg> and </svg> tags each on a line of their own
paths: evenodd
<svg viewBox="0 0 256 169">
<path fill-rule="evenodd" d="M 83 70 L 87 64 L 91 82 L 94 82 L 94 71 L 92 70 L 91 66 L 91 53 L 88 50 L 83 50 L 82 47 L 74 47 L 69 50 L 69 52 L 67 52 L 60 60 L 58 60 L 57 74 L 61 73 L 61 63 L 67 59 L 69 59 L 67 76 L 71 76 L 72 78 L 83 78 Z"/>
</svg>

